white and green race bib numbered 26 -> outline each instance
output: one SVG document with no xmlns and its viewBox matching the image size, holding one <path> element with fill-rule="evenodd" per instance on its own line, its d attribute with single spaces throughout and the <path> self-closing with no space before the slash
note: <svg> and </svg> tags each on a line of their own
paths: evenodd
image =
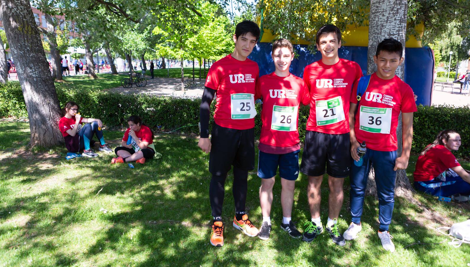
<svg viewBox="0 0 470 267">
<path fill-rule="evenodd" d="M 271 129 L 277 131 L 297 130 L 297 106 L 273 106 Z"/>
</svg>

